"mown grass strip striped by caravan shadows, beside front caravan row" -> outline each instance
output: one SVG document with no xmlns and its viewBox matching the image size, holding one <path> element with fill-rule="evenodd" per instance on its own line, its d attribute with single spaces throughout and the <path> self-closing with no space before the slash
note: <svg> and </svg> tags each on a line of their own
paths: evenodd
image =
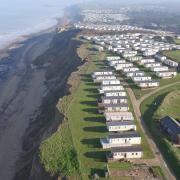
<svg viewBox="0 0 180 180">
<path fill-rule="evenodd" d="M 90 76 L 91 72 L 103 66 L 98 62 L 100 56 L 100 59 L 104 59 L 105 53 L 91 55 L 92 62 L 87 72 L 82 74 L 82 82 L 67 113 L 83 179 L 94 172 L 102 174 L 106 166 L 106 156 L 99 138 L 105 137 L 107 130 L 103 116 L 98 114 L 96 101 L 99 95 Z"/>
</svg>

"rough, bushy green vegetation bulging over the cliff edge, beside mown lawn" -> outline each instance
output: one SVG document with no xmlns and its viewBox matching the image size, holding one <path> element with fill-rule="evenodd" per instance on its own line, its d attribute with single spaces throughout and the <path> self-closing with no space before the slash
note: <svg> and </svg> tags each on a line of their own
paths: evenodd
<svg viewBox="0 0 180 180">
<path fill-rule="evenodd" d="M 79 163 L 67 120 L 41 144 L 39 156 L 45 170 L 52 176 L 78 176 Z"/>
</svg>

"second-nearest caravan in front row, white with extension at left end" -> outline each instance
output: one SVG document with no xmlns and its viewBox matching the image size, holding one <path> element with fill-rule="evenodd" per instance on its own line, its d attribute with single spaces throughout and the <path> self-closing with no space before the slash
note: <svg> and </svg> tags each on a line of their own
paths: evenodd
<svg viewBox="0 0 180 180">
<path fill-rule="evenodd" d="M 141 144 L 141 136 L 135 131 L 110 133 L 100 140 L 102 148 L 122 147 Z"/>
</svg>

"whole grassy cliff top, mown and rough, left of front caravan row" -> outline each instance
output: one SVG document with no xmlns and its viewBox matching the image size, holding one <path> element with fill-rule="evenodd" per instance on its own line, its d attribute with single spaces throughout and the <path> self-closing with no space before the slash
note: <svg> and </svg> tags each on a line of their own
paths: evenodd
<svg viewBox="0 0 180 180">
<path fill-rule="evenodd" d="M 106 137 L 108 131 L 105 118 L 98 113 L 97 99 L 100 95 L 97 91 L 98 86 L 93 83 L 91 73 L 104 67 L 102 60 L 107 56 L 107 52 L 95 51 L 91 44 L 84 42 L 78 49 L 78 54 L 87 61 L 70 78 L 71 94 L 63 97 L 57 105 L 67 120 L 53 136 L 43 142 L 40 158 L 45 169 L 52 175 L 67 174 L 84 180 L 97 173 L 103 178 L 107 165 L 107 150 L 102 149 L 100 138 Z M 146 152 L 149 151 L 146 141 L 143 141 L 143 147 L 147 148 Z M 67 149 L 71 151 L 64 154 Z M 69 160 L 72 154 L 74 158 L 71 164 Z M 68 163 L 65 163 L 66 159 Z M 75 169 L 71 168 L 75 162 L 77 166 Z M 127 168 L 123 163 L 119 166 Z M 70 171 L 67 167 L 70 167 Z"/>
</svg>

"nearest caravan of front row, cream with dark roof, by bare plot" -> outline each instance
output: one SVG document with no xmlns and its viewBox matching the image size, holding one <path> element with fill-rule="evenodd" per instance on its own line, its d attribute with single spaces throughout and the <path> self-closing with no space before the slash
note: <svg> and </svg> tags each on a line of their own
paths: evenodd
<svg viewBox="0 0 180 180">
<path fill-rule="evenodd" d="M 140 146 L 124 146 L 111 148 L 111 157 L 114 160 L 121 159 L 140 159 L 143 151 Z"/>
</svg>

